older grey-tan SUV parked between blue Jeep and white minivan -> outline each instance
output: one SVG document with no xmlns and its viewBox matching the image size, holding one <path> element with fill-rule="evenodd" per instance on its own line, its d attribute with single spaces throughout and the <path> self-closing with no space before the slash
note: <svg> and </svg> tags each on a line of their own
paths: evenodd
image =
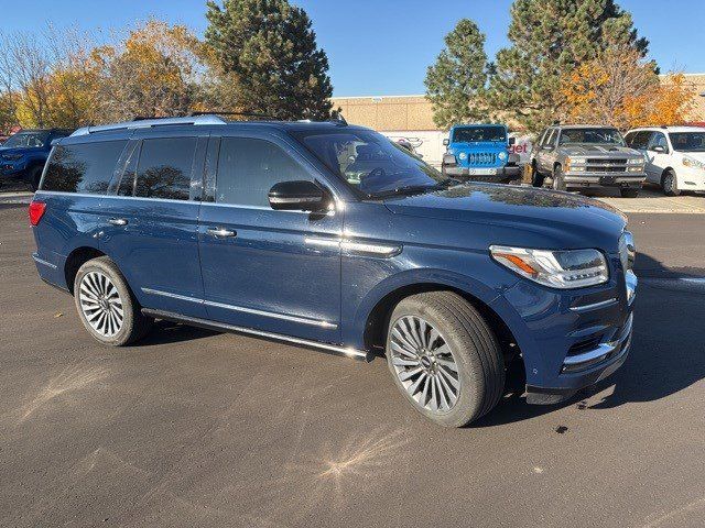
<svg viewBox="0 0 705 528">
<path fill-rule="evenodd" d="M 531 152 L 531 183 L 552 180 L 556 190 L 571 187 L 619 187 L 634 198 L 647 175 L 643 155 L 625 144 L 611 127 L 554 125 L 539 136 Z"/>
</svg>

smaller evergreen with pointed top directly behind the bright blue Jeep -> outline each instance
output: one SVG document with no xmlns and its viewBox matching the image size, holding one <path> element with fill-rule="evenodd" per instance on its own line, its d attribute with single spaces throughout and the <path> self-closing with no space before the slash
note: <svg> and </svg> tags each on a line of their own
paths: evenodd
<svg viewBox="0 0 705 528">
<path fill-rule="evenodd" d="M 445 36 L 445 48 L 429 66 L 424 84 L 438 127 L 487 120 L 485 35 L 475 22 L 462 19 Z"/>
</svg>

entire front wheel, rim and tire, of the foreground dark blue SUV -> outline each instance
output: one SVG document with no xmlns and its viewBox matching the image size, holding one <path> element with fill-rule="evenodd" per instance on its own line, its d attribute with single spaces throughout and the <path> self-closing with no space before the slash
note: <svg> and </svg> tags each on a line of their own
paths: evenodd
<svg viewBox="0 0 705 528">
<path fill-rule="evenodd" d="M 444 427 L 465 426 L 491 410 L 505 386 L 495 333 L 452 292 L 406 297 L 394 308 L 387 362 L 408 402 Z"/>
</svg>

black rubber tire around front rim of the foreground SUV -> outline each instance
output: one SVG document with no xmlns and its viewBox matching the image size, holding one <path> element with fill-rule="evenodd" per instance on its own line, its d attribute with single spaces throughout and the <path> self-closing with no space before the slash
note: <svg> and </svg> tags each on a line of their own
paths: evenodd
<svg viewBox="0 0 705 528">
<path fill-rule="evenodd" d="M 414 399 L 400 380 L 398 369 L 414 367 L 394 365 L 393 360 L 401 359 L 401 355 L 394 355 L 392 352 L 392 348 L 397 346 L 392 344 L 392 330 L 398 329 L 397 324 L 410 317 L 427 322 L 438 332 L 440 342 L 447 344 L 452 351 L 457 366 L 457 374 L 454 376 L 459 382 L 459 388 L 449 409 L 425 408 Z M 431 344 L 429 349 L 432 349 Z M 398 346 L 394 350 L 398 350 Z M 477 420 L 497 405 L 503 392 L 505 364 L 495 332 L 471 305 L 452 292 L 417 294 L 397 305 L 387 332 L 387 360 L 392 378 L 406 400 L 426 418 L 444 427 L 462 427 Z M 419 364 L 421 365 L 421 360 Z M 438 365 L 435 367 L 442 369 Z"/>
</svg>

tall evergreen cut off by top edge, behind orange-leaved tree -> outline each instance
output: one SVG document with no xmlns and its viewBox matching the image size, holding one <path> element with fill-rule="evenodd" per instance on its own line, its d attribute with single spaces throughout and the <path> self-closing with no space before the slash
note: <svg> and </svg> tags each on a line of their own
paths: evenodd
<svg viewBox="0 0 705 528">
<path fill-rule="evenodd" d="M 489 98 L 531 132 L 565 119 L 562 82 L 583 62 L 611 45 L 632 46 L 641 56 L 648 48 L 614 0 L 516 0 L 509 40 L 492 65 Z"/>
</svg>

